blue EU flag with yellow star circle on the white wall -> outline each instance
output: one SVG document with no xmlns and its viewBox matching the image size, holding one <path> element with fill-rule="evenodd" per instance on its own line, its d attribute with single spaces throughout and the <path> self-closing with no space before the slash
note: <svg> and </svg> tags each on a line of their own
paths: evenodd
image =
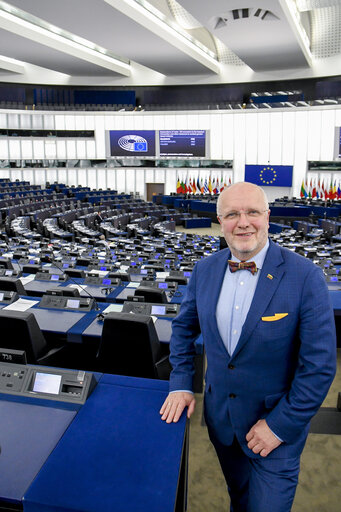
<svg viewBox="0 0 341 512">
<path fill-rule="evenodd" d="M 245 165 L 245 181 L 261 187 L 291 187 L 292 165 Z"/>
</svg>

